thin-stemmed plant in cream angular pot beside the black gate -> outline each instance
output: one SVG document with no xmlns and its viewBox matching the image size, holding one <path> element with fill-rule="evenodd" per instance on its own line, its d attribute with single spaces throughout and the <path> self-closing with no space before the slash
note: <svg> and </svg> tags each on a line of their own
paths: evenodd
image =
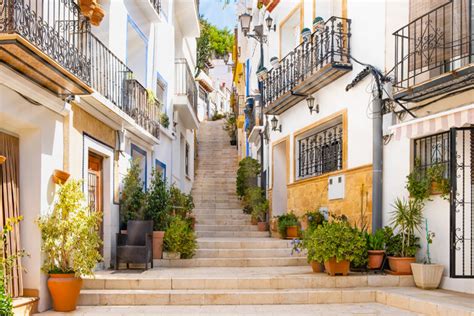
<svg viewBox="0 0 474 316">
<path fill-rule="evenodd" d="M 437 289 L 443 277 L 444 266 L 431 262 L 430 245 L 435 234 L 428 230 L 428 220 L 425 219 L 426 256 L 423 263 L 412 263 L 413 279 L 417 287 L 430 290 Z"/>
</svg>

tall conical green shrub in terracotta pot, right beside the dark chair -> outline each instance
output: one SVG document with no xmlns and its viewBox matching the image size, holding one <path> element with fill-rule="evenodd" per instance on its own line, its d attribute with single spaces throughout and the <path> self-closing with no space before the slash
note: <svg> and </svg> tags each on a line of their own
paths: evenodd
<svg viewBox="0 0 474 316">
<path fill-rule="evenodd" d="M 163 238 L 168 228 L 170 192 L 166 180 L 158 169 L 153 169 L 153 178 L 145 194 L 143 213 L 145 220 L 153 221 L 153 259 L 161 259 Z"/>
</svg>

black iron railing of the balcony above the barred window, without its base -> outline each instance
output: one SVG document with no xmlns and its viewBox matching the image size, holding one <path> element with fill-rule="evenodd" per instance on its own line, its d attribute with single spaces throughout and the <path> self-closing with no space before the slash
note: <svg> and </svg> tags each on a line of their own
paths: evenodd
<svg viewBox="0 0 474 316">
<path fill-rule="evenodd" d="M 331 17 L 268 72 L 263 82 L 264 104 L 269 106 L 328 64 L 350 64 L 351 20 Z"/>
</svg>

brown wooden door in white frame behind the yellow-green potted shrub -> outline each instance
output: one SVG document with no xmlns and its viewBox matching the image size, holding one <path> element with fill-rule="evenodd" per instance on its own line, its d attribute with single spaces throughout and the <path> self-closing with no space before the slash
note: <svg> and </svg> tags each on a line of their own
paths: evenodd
<svg viewBox="0 0 474 316">
<path fill-rule="evenodd" d="M 103 212 L 103 181 L 102 181 L 102 161 L 103 158 L 94 153 L 89 153 L 88 170 L 88 197 L 89 208 L 92 212 Z M 100 238 L 104 240 L 104 222 L 100 224 Z M 100 247 L 100 253 L 104 255 L 103 245 Z"/>
</svg>

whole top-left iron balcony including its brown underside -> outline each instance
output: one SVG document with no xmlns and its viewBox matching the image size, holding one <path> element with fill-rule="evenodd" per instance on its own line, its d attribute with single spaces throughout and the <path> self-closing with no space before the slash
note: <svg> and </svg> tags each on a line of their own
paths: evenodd
<svg viewBox="0 0 474 316">
<path fill-rule="evenodd" d="M 0 61 L 57 95 L 91 91 L 89 31 L 73 0 L 0 0 Z"/>
</svg>

